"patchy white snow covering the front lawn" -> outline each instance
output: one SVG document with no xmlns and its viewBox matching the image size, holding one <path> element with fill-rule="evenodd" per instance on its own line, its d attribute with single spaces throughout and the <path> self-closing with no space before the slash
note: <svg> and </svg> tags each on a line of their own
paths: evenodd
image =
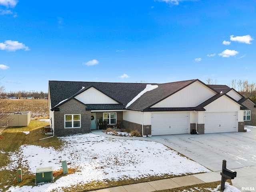
<svg viewBox="0 0 256 192">
<path fill-rule="evenodd" d="M 34 187 L 11 187 L 8 191 L 62 191 L 62 187 L 93 181 L 210 172 L 157 142 L 111 139 L 92 133 L 60 139 L 66 142 L 60 150 L 23 145 L 18 152 L 11 155 L 11 163 L 0 169 L 28 168 L 35 174 L 38 167 L 52 166 L 53 170 L 60 170 L 61 161 L 66 160 L 68 168 L 77 168 L 79 171 L 63 176 L 53 183 Z M 19 162 L 22 162 L 22 167 L 18 166 Z"/>
</svg>

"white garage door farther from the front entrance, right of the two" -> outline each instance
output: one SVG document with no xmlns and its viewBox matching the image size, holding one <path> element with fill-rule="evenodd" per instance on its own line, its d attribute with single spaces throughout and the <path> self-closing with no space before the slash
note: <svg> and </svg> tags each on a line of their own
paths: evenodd
<svg viewBox="0 0 256 192">
<path fill-rule="evenodd" d="M 204 133 L 236 132 L 237 112 L 204 113 Z"/>
</svg>

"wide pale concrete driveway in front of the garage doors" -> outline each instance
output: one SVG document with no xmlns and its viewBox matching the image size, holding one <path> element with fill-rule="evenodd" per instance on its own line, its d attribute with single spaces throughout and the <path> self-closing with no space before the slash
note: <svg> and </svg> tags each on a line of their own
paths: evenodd
<svg viewBox="0 0 256 192">
<path fill-rule="evenodd" d="M 203 135 L 152 136 L 160 142 L 206 168 L 220 173 L 222 160 L 227 168 L 235 170 L 237 177 L 232 180 L 241 191 L 256 190 L 256 128 L 251 132 L 229 132 Z M 221 180 L 221 176 L 220 176 Z"/>
</svg>

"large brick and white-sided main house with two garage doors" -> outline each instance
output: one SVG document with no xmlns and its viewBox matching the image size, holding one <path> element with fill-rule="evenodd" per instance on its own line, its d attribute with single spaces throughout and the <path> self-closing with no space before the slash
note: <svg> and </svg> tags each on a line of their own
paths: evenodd
<svg viewBox="0 0 256 192">
<path fill-rule="evenodd" d="M 48 106 L 56 136 L 86 133 L 99 121 L 141 134 L 244 132 L 236 92 L 198 79 L 162 84 L 49 81 Z"/>
</svg>

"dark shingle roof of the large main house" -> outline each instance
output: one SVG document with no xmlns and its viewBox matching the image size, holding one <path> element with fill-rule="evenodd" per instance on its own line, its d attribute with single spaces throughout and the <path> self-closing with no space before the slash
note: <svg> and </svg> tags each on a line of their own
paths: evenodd
<svg viewBox="0 0 256 192">
<path fill-rule="evenodd" d="M 152 84 L 158 85 L 157 88 L 144 93 L 140 98 L 134 101 L 128 110 L 138 111 L 176 111 L 176 110 L 204 110 L 203 106 L 197 106 L 194 108 L 153 108 L 154 104 L 164 100 L 170 95 L 182 90 L 186 86 L 200 80 L 186 80 L 179 82 Z M 201 82 L 204 84 L 203 82 Z M 102 93 L 106 94 L 110 98 L 116 100 L 119 104 L 85 104 L 87 110 L 118 110 L 124 109 L 126 105 L 136 97 L 140 92 L 146 88 L 146 83 L 108 83 L 108 82 L 70 82 L 70 81 L 49 81 L 49 92 L 51 106 L 58 105 L 61 101 L 66 99 L 72 99 L 77 94 L 80 94 L 84 90 L 94 87 Z M 84 87 L 84 89 L 82 89 Z M 214 90 L 212 87 L 209 87 Z M 81 90 L 82 89 L 82 90 Z M 215 91 L 215 90 L 214 90 Z M 217 91 L 215 91 L 218 93 Z"/>
</svg>

